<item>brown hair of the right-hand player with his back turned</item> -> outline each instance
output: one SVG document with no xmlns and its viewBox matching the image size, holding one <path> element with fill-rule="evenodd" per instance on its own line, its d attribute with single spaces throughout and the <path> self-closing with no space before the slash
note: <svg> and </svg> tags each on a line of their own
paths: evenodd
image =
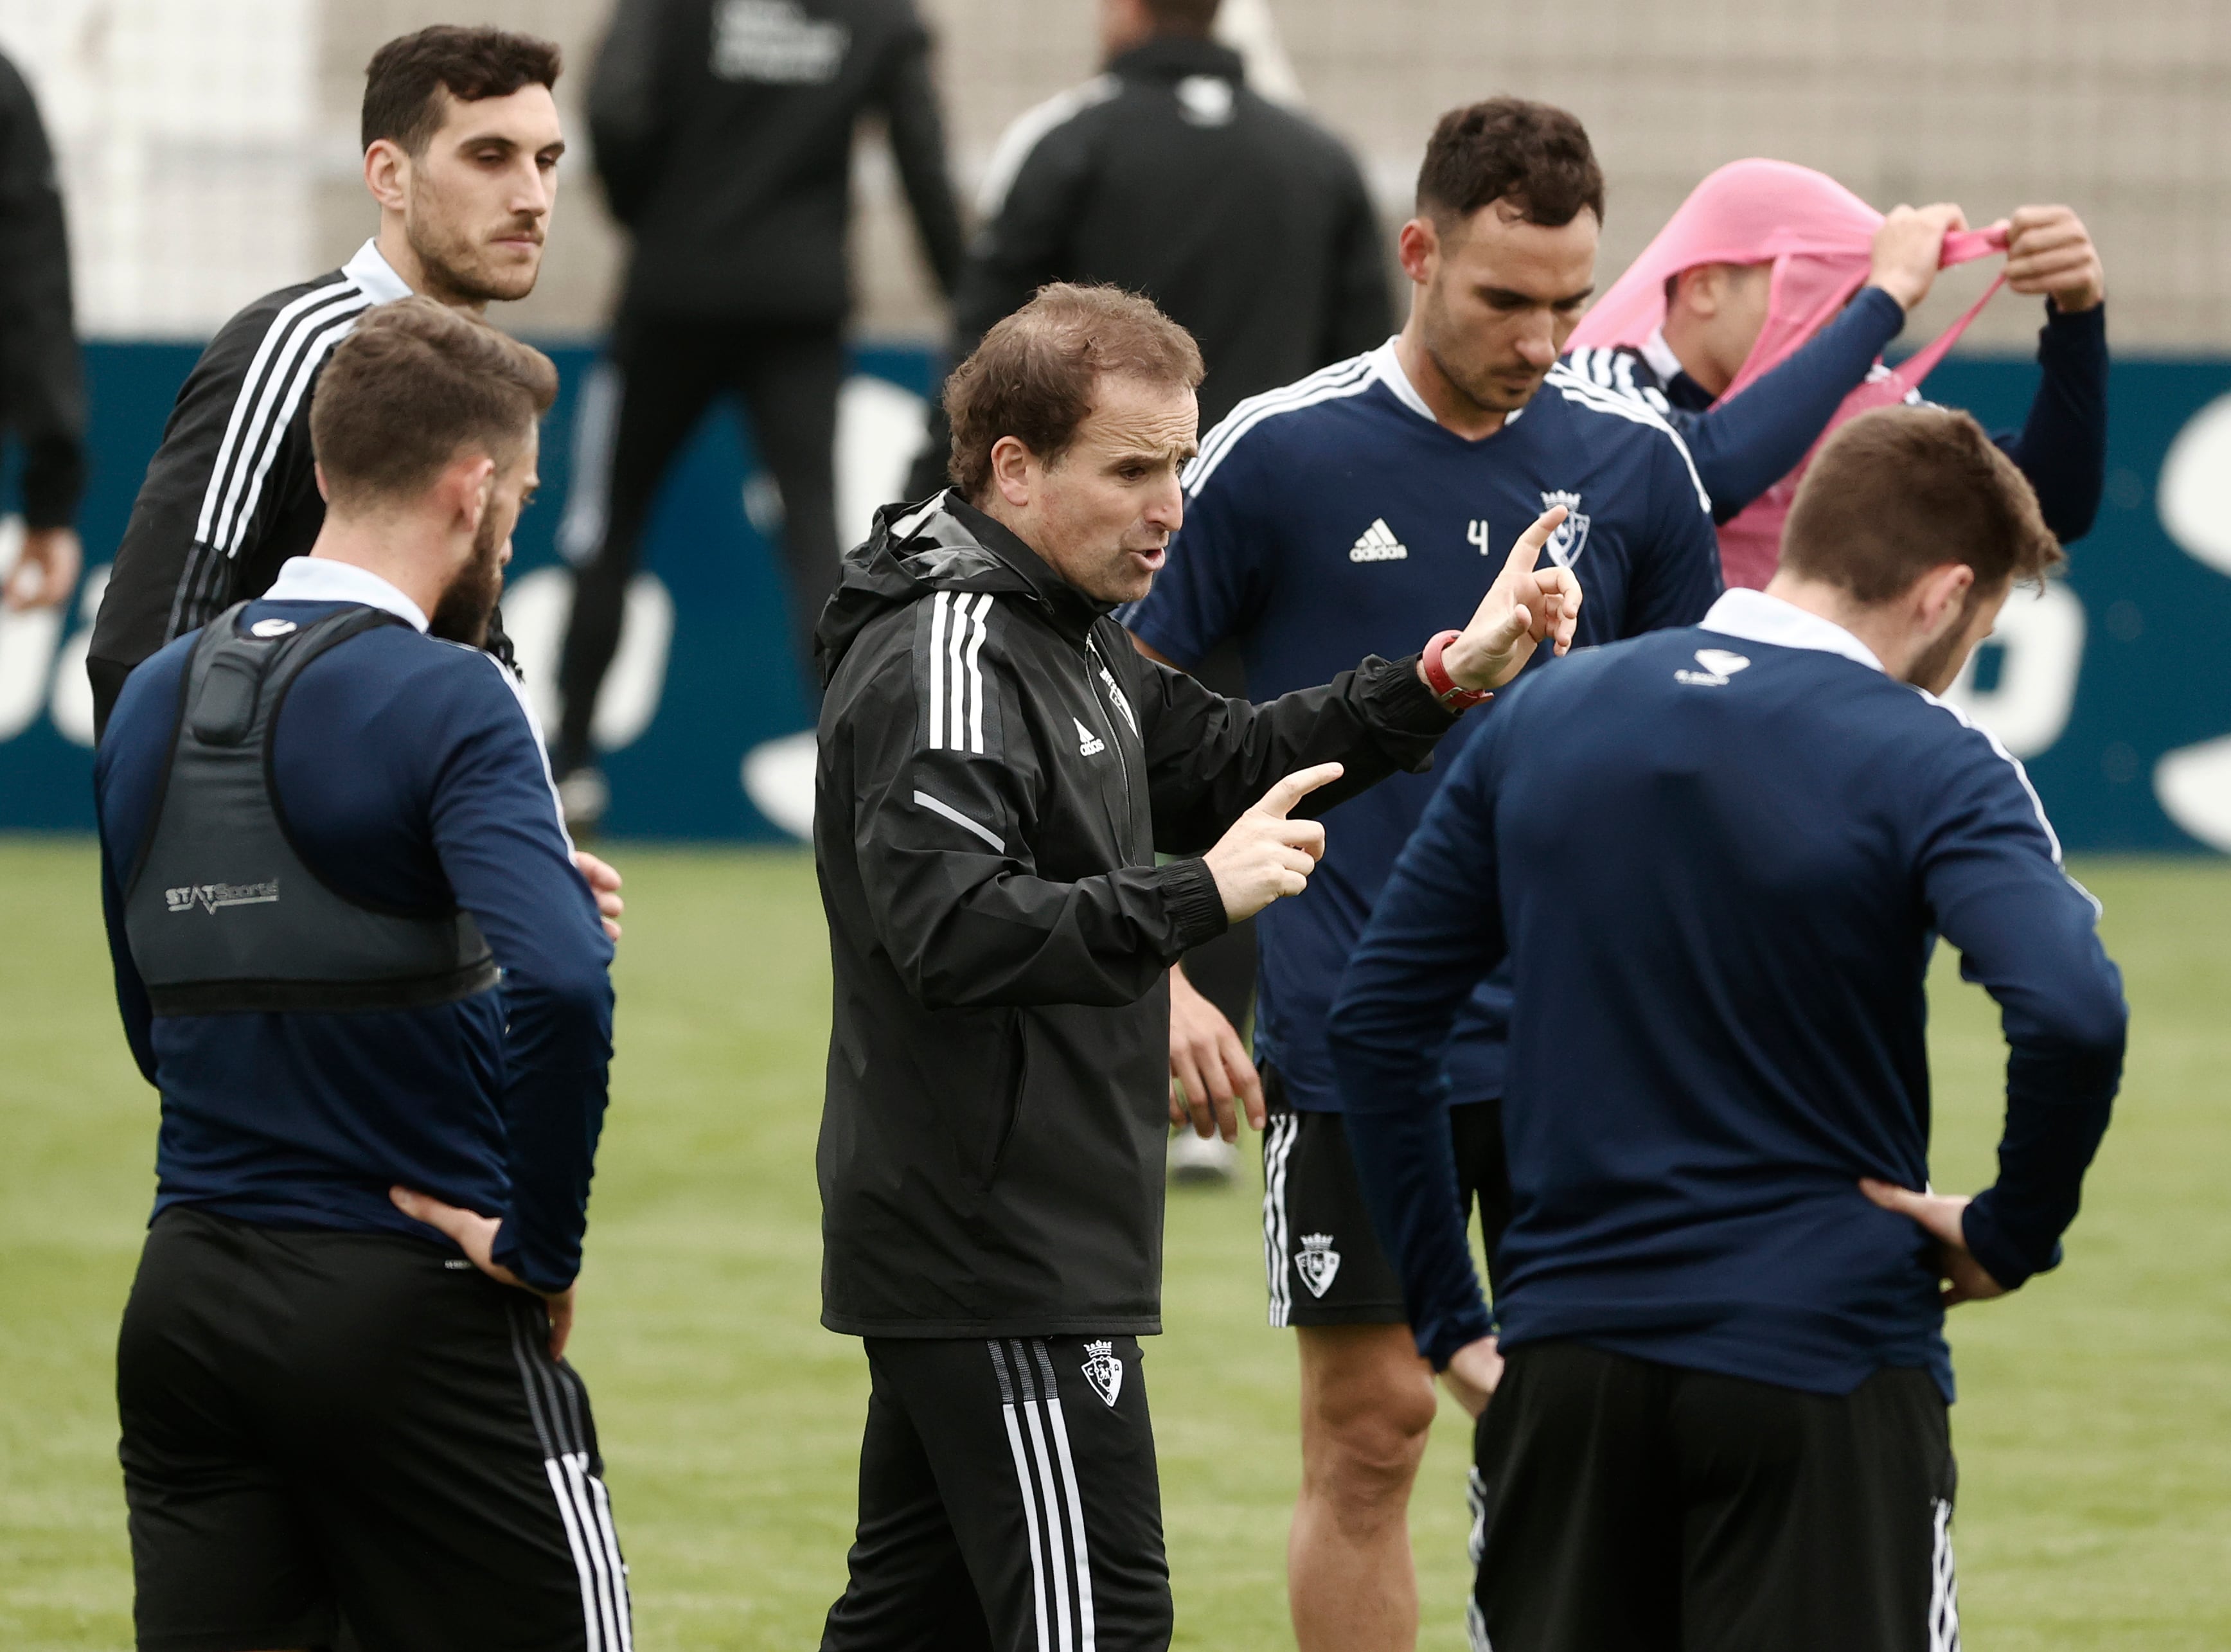
<svg viewBox="0 0 2231 1652">
<path fill-rule="evenodd" d="M 1783 525 L 1783 567 L 1861 603 L 1887 603 L 1945 563 L 1966 563 L 1990 592 L 2064 560 L 2028 478 L 1950 406 L 1879 406 L 1847 422 L 1820 444 Z"/>
</svg>

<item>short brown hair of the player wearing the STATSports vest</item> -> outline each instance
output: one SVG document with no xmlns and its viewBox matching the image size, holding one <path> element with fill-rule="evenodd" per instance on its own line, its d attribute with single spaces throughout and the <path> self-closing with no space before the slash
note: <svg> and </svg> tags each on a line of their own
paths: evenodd
<svg viewBox="0 0 2231 1652">
<path fill-rule="evenodd" d="M 424 491 L 460 451 L 509 464 L 558 368 L 486 321 L 413 295 L 366 310 L 310 395 L 310 453 L 337 509 Z"/>
</svg>

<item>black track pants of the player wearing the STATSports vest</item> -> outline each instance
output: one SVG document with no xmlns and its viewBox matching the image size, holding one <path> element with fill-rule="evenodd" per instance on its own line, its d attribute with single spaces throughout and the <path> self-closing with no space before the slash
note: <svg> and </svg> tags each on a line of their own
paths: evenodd
<svg viewBox="0 0 2231 1652">
<path fill-rule="evenodd" d="M 141 1652 L 631 1652 L 589 1393 L 440 1243 L 165 1210 L 116 1400 Z"/>
</svg>

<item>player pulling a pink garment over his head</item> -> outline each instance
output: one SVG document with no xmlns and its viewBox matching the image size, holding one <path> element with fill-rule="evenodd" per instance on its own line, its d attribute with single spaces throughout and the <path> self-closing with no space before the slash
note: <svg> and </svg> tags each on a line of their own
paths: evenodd
<svg viewBox="0 0 2231 1652">
<path fill-rule="evenodd" d="M 1966 315 L 1883 366 L 1939 268 L 2001 252 L 1999 279 Z M 2064 205 L 1970 230 L 1957 205 L 1883 217 L 1809 167 L 1733 161 L 1582 317 L 1571 364 L 1682 433 L 1711 493 L 1727 583 L 1760 587 L 1818 440 L 1870 406 L 1919 400 L 1999 286 L 2044 295 L 2046 326 L 2028 422 L 1995 440 L 2068 542 L 2090 529 L 2106 476 L 2106 286 L 2090 234 Z"/>
</svg>

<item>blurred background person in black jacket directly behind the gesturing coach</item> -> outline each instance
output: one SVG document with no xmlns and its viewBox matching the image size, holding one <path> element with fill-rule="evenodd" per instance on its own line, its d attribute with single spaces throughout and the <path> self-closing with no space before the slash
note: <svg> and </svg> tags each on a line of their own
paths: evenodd
<svg viewBox="0 0 2231 1652">
<path fill-rule="evenodd" d="M 1200 429 L 1240 400 L 1294 384 L 1394 330 L 1385 239 L 1356 159 L 1245 80 L 1207 38 L 1216 7 L 1104 7 L 1107 71 L 1017 118 L 984 174 L 984 221 L 953 297 L 950 359 L 1046 281 L 1145 292 L 1200 342 Z M 1122 18 L 1147 38 L 1127 38 Z M 944 482 L 944 409 L 908 498 Z M 1240 694 L 1238 647 L 1196 676 Z M 1234 1027 L 1254 1002 L 1254 924 L 1185 960 Z"/>
</svg>

